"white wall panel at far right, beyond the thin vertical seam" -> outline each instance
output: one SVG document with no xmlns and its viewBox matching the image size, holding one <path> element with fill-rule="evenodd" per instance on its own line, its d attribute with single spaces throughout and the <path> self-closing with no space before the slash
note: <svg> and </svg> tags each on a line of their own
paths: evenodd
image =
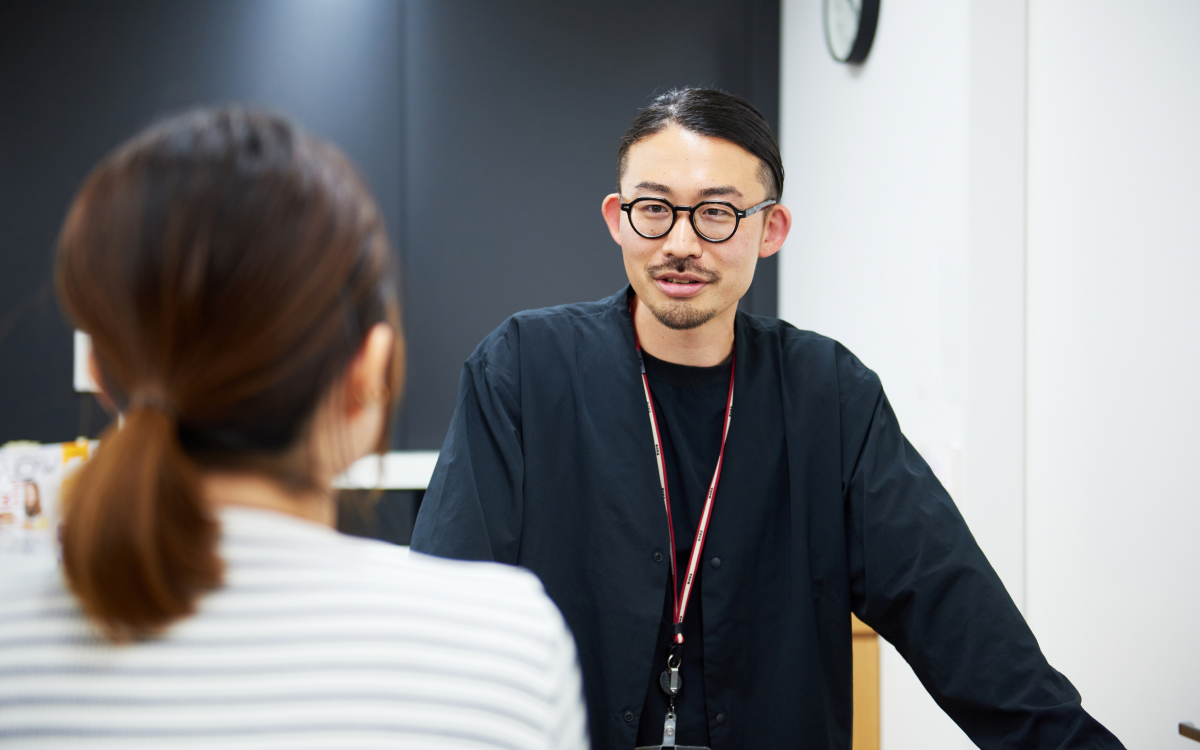
<svg viewBox="0 0 1200 750">
<path fill-rule="evenodd" d="M 1200 722 L 1198 32 L 1030 10 L 1027 614 L 1129 748 Z"/>
</svg>

